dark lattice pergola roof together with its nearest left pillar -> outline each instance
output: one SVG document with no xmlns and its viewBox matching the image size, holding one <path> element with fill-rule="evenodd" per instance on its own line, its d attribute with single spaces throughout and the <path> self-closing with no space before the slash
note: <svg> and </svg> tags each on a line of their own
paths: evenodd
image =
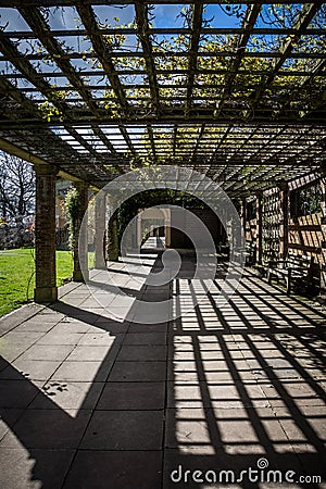
<svg viewBox="0 0 326 489">
<path fill-rule="evenodd" d="M 37 172 L 39 300 L 55 173 L 99 189 L 177 164 L 243 199 L 325 170 L 325 2 L 1 4 L 0 148 Z"/>
</svg>

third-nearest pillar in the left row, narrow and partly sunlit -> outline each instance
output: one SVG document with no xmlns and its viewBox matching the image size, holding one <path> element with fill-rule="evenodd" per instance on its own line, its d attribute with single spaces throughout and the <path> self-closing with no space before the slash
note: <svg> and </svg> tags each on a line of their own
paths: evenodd
<svg viewBox="0 0 326 489">
<path fill-rule="evenodd" d="M 105 204 L 106 196 L 100 191 L 95 201 L 95 267 L 105 269 Z"/>
</svg>

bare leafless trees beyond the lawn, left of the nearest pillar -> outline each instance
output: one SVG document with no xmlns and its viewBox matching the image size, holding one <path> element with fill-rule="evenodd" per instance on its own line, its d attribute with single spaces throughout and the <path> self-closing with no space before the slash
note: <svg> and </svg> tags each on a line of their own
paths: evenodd
<svg viewBox="0 0 326 489">
<path fill-rule="evenodd" d="M 30 243 L 35 208 L 35 176 L 29 163 L 0 152 L 1 248 Z"/>
</svg>

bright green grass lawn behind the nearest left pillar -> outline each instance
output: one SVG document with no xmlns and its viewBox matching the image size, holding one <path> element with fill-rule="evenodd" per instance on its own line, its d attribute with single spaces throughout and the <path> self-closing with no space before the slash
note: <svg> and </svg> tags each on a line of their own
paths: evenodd
<svg viewBox="0 0 326 489">
<path fill-rule="evenodd" d="M 73 275 L 70 251 L 57 251 L 57 285 Z M 33 299 L 34 249 L 0 251 L 0 316 Z"/>
</svg>

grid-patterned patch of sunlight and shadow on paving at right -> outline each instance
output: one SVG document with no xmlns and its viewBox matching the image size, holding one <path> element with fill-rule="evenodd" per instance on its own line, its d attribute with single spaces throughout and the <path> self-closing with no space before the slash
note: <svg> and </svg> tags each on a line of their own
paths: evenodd
<svg viewBox="0 0 326 489">
<path fill-rule="evenodd" d="M 190 279 L 174 284 L 175 306 L 192 301 Z M 265 455 L 292 467 L 323 451 L 325 316 L 247 272 L 223 308 L 221 286 L 196 286 L 198 305 L 174 322 L 167 388 L 170 466 L 233 468 Z M 176 452 L 177 450 L 177 452 Z M 190 459 L 191 462 L 190 462 Z M 313 464 L 313 459 L 311 463 Z M 220 461 L 220 462 L 218 462 Z M 246 468 L 246 465 L 243 465 Z M 318 462 L 316 462 L 316 474 Z M 321 472 L 321 468 L 319 468 Z M 242 487 L 242 486 L 241 486 Z"/>
</svg>

